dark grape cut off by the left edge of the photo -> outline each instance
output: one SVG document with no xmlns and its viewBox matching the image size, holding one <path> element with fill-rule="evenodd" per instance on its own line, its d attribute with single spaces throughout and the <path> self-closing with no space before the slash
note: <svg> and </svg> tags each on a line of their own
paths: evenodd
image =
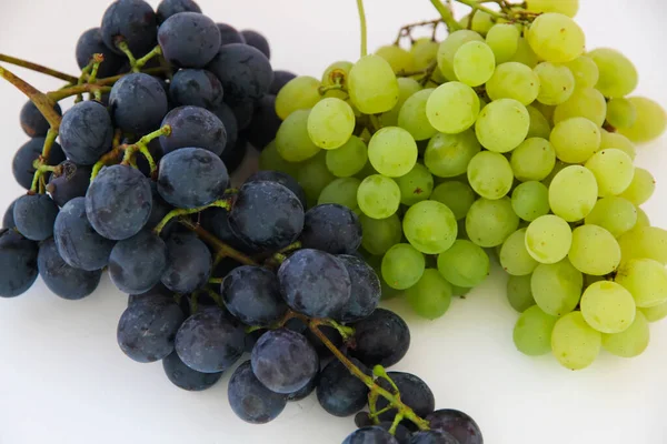
<svg viewBox="0 0 667 444">
<path fill-rule="evenodd" d="M 23 294 L 37 279 L 37 242 L 11 229 L 0 230 L 0 297 Z"/>
</svg>

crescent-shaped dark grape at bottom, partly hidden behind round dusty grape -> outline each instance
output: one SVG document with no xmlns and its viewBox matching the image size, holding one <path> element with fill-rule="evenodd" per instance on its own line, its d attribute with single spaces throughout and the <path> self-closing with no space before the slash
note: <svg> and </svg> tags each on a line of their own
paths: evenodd
<svg viewBox="0 0 667 444">
<path fill-rule="evenodd" d="M 233 413 L 250 424 L 273 421 L 287 405 L 285 395 L 271 392 L 259 382 L 250 361 L 239 365 L 231 375 L 227 397 Z"/>
</svg>

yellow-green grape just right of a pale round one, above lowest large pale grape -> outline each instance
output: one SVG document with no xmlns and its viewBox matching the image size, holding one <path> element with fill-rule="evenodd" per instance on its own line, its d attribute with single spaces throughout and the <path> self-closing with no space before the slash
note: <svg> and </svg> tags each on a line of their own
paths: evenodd
<svg viewBox="0 0 667 444">
<path fill-rule="evenodd" d="M 586 224 L 573 231 L 573 244 L 567 256 L 581 273 L 603 276 L 618 268 L 620 246 L 604 228 Z"/>
</svg>

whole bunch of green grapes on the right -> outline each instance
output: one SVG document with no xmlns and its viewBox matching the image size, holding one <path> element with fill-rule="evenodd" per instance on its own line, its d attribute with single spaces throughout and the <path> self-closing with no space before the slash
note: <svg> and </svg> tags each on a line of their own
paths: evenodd
<svg viewBox="0 0 667 444">
<path fill-rule="evenodd" d="M 655 181 L 633 162 L 665 111 L 631 95 L 624 54 L 586 48 L 578 1 L 458 1 L 472 8 L 458 22 L 431 1 L 441 18 L 416 26 L 434 38 L 406 27 L 320 80 L 289 81 L 260 167 L 293 175 L 309 204 L 355 211 L 382 296 L 402 293 L 421 316 L 441 316 L 495 258 L 520 352 L 573 370 L 603 347 L 640 354 L 667 316 L 667 231 L 641 210 Z"/>
</svg>

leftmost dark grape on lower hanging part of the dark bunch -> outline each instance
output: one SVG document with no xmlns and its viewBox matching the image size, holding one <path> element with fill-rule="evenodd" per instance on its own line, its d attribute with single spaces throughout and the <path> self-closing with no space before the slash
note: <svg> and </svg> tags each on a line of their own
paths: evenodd
<svg viewBox="0 0 667 444">
<path fill-rule="evenodd" d="M 183 313 L 173 301 L 146 297 L 120 316 L 116 333 L 120 350 L 137 362 L 156 362 L 173 352 Z"/>
</svg>

